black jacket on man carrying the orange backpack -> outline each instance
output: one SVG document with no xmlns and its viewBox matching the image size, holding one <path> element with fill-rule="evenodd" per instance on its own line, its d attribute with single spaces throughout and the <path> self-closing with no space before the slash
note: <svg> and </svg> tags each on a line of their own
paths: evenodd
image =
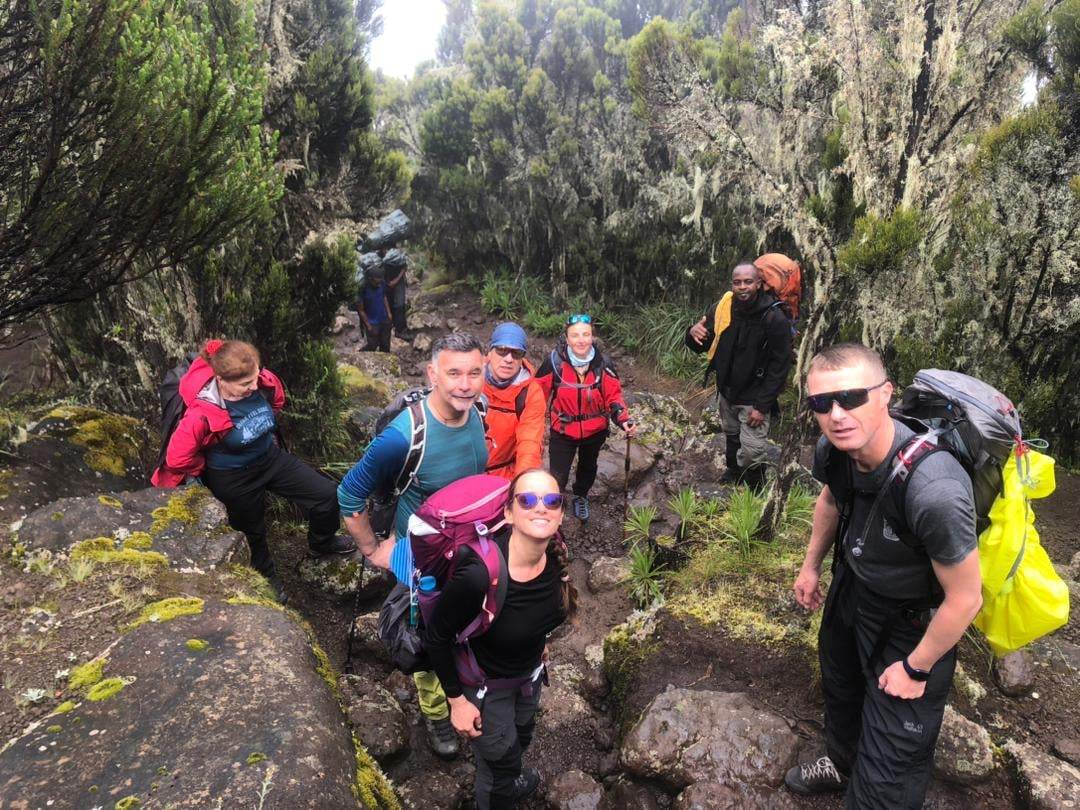
<svg viewBox="0 0 1080 810">
<path fill-rule="evenodd" d="M 716 306 L 705 313 L 708 334 L 702 343 L 686 332 L 686 345 L 701 354 L 713 345 Z M 733 405 L 753 405 L 762 414 L 779 413 L 777 399 L 792 367 L 792 320 L 771 291 L 762 291 L 745 308 L 731 305 L 731 324 L 720 335 L 716 354 L 705 369 L 716 375 L 716 389 Z"/>
</svg>

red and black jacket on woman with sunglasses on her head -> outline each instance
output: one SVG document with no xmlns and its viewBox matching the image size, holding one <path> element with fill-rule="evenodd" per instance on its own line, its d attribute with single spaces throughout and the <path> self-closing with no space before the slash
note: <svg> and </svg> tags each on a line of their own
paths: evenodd
<svg viewBox="0 0 1080 810">
<path fill-rule="evenodd" d="M 537 382 L 551 403 L 551 429 L 569 438 L 596 435 L 607 429 L 609 418 L 620 426 L 630 420 L 622 383 L 598 346 L 579 375 L 567 356 L 566 343 L 559 342 L 537 372 Z"/>
</svg>

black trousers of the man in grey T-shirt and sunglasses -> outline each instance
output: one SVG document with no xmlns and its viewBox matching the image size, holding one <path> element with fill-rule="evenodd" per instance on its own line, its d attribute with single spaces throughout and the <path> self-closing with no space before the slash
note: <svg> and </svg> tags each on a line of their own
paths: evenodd
<svg viewBox="0 0 1080 810">
<path fill-rule="evenodd" d="M 930 783 L 934 745 L 956 669 L 954 648 L 934 664 L 923 696 L 892 698 L 878 689 L 881 672 L 922 638 L 929 611 L 897 610 L 855 580 L 845 565 L 825 600 L 818 649 L 825 693 L 825 743 L 848 775 L 845 807 L 917 810 Z M 887 631 L 883 647 L 882 631 Z M 875 658 L 876 648 L 881 652 Z"/>
</svg>

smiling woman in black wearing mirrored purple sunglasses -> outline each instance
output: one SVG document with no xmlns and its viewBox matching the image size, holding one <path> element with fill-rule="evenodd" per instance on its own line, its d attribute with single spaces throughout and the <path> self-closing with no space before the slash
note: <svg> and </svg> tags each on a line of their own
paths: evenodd
<svg viewBox="0 0 1080 810">
<path fill-rule="evenodd" d="M 488 679 L 484 692 L 462 685 L 454 642 L 474 620 L 488 592 L 487 568 L 471 549 L 447 582 L 424 632 L 424 648 L 446 688 L 454 728 L 470 738 L 476 758 L 478 810 L 514 807 L 540 785 L 535 768 L 522 758 L 532 741 L 541 685 L 546 683 L 548 634 L 573 616 L 578 594 L 570 583 L 567 550 L 559 537 L 563 494 L 544 470 L 514 478 L 505 516 L 494 535 L 509 569 L 507 595 L 491 626 L 470 639 L 476 663 Z M 510 683 L 507 683 L 507 681 Z"/>
</svg>

